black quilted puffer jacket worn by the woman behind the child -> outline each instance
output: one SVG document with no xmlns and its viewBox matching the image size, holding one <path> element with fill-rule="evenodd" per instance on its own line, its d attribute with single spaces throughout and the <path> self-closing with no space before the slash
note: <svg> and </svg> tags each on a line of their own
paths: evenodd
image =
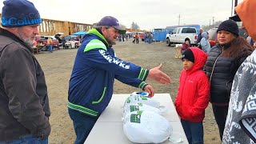
<svg viewBox="0 0 256 144">
<path fill-rule="evenodd" d="M 222 56 L 224 48 L 217 45 L 210 49 L 204 70 L 210 81 L 210 102 L 228 105 L 230 90 L 234 74 L 238 67 L 252 53 L 247 48 L 242 48 L 238 58 Z"/>
</svg>

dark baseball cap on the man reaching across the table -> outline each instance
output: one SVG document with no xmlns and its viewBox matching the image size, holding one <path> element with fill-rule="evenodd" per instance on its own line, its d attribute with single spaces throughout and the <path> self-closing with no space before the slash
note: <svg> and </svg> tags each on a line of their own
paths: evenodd
<svg viewBox="0 0 256 144">
<path fill-rule="evenodd" d="M 115 29 L 119 30 L 119 34 L 126 34 L 126 30 L 120 26 L 118 19 L 111 16 L 103 17 L 98 22 L 98 26 L 112 26 Z"/>
</svg>

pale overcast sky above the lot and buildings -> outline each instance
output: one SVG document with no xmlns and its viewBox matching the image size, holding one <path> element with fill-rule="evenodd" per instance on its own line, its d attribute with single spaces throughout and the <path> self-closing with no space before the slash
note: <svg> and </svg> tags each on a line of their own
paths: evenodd
<svg viewBox="0 0 256 144">
<path fill-rule="evenodd" d="M 92 24 L 106 15 L 130 28 L 142 30 L 166 26 L 224 21 L 231 15 L 232 0 L 30 0 L 41 18 Z M 238 3 L 242 0 L 238 0 Z M 2 0 L 0 7 L 2 8 Z"/>
</svg>

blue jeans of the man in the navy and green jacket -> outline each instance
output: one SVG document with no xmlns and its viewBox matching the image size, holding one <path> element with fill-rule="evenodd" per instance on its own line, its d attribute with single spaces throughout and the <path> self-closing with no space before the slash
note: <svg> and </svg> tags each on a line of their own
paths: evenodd
<svg viewBox="0 0 256 144">
<path fill-rule="evenodd" d="M 82 114 L 77 110 L 68 109 L 70 118 L 73 120 L 74 131 L 77 138 L 74 144 L 82 144 L 90 134 L 90 130 L 94 127 L 98 117 L 90 117 L 89 115 Z"/>
</svg>

